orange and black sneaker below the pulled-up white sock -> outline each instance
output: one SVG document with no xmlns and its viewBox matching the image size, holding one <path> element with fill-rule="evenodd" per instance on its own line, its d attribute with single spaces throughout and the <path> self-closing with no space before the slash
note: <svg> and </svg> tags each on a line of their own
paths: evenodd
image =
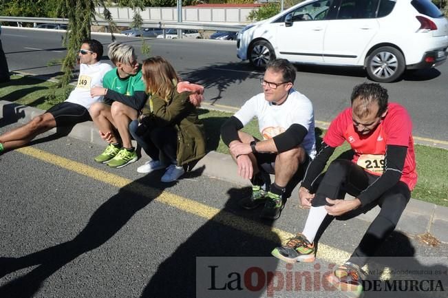
<svg viewBox="0 0 448 298">
<path fill-rule="evenodd" d="M 305 235 L 299 233 L 288 240 L 285 246 L 276 247 L 270 253 L 277 259 L 294 264 L 295 262 L 314 262 L 316 248 Z"/>
</svg>

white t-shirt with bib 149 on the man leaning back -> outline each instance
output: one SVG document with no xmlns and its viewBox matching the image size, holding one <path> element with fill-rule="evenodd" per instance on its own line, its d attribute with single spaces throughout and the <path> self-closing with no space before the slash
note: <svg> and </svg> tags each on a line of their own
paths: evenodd
<svg viewBox="0 0 448 298">
<path fill-rule="evenodd" d="M 103 87 L 103 76 L 111 69 L 111 65 L 107 63 L 97 62 L 92 65 L 81 63 L 79 65 L 78 83 L 65 101 L 68 103 L 77 103 L 89 109 L 92 103 L 103 100 L 103 96 L 95 96 L 92 98 L 90 96 L 90 88 L 94 86 Z"/>
</svg>

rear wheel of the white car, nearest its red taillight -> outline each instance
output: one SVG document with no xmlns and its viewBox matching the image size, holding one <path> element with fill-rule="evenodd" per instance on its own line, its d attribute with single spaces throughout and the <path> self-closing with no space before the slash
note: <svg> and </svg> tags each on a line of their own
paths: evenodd
<svg viewBox="0 0 448 298">
<path fill-rule="evenodd" d="M 395 47 L 378 47 L 367 57 L 366 66 L 373 81 L 390 83 L 405 72 L 405 58 Z"/>
</svg>

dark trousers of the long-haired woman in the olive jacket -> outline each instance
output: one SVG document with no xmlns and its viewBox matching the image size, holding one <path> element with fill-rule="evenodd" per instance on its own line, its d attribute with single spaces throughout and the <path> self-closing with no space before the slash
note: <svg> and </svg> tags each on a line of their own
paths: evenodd
<svg viewBox="0 0 448 298">
<path fill-rule="evenodd" d="M 151 127 L 145 134 L 137 136 L 138 120 L 129 123 L 129 132 L 152 160 L 159 160 L 160 153 L 175 163 L 178 150 L 178 133 L 172 126 Z"/>
</svg>

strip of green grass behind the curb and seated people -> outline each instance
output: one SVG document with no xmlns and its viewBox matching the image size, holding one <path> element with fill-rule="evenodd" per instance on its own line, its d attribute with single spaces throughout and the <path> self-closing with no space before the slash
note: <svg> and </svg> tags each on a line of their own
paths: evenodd
<svg viewBox="0 0 448 298">
<path fill-rule="evenodd" d="M 49 109 L 52 103 L 47 101 L 47 96 L 54 92 L 54 83 L 41 81 L 29 76 L 12 76 L 10 83 L 0 84 L 0 98 L 21 105 L 30 105 L 39 109 Z M 61 96 L 62 91 L 56 90 L 56 96 Z M 215 150 L 228 154 L 228 148 L 220 138 L 220 127 L 232 114 L 223 111 L 200 109 L 200 118 L 206 128 L 206 142 L 209 151 Z M 261 138 L 256 120 L 251 121 L 244 131 Z M 317 128 L 317 143 L 321 142 L 324 131 Z M 337 149 L 332 158 L 348 151 L 350 147 L 345 144 Z M 448 150 L 416 145 L 416 159 L 418 171 L 418 183 L 412 192 L 412 198 L 448 206 Z"/>
</svg>

